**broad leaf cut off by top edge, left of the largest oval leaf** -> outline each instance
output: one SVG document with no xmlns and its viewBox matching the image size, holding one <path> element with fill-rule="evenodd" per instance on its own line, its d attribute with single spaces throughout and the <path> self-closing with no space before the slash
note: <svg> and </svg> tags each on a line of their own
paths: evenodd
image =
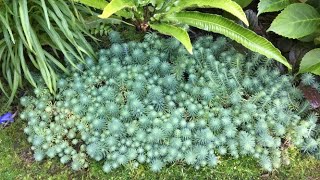
<svg viewBox="0 0 320 180">
<path fill-rule="evenodd" d="M 290 0 L 260 0 L 258 4 L 258 15 L 266 12 L 280 11 L 290 4 Z"/>
</svg>

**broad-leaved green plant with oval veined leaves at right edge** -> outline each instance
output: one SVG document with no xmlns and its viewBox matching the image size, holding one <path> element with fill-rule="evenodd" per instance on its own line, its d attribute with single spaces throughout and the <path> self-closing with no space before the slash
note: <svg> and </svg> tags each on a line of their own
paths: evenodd
<svg viewBox="0 0 320 180">
<path fill-rule="evenodd" d="M 268 31 L 273 31 L 283 37 L 299 39 L 304 42 L 320 44 L 320 11 L 319 1 L 293 0 L 260 0 L 258 14 L 281 11 L 274 19 Z M 312 72 L 320 75 L 319 48 L 308 52 L 301 61 L 299 73 Z"/>
</svg>

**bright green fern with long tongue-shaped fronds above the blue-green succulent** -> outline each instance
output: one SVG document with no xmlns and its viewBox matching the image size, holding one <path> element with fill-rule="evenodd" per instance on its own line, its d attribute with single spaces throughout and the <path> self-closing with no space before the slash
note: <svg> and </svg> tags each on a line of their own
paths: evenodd
<svg viewBox="0 0 320 180">
<path fill-rule="evenodd" d="M 222 9 L 248 25 L 248 20 L 240 5 L 232 0 L 74 0 L 94 8 L 103 9 L 100 18 L 112 15 L 122 17 L 140 30 L 149 28 L 179 40 L 192 54 L 192 45 L 186 26 L 223 34 L 252 51 L 273 58 L 291 69 L 290 64 L 268 40 L 235 22 L 217 14 L 201 13 L 192 8 Z M 248 2 L 240 2 L 247 5 Z"/>
</svg>

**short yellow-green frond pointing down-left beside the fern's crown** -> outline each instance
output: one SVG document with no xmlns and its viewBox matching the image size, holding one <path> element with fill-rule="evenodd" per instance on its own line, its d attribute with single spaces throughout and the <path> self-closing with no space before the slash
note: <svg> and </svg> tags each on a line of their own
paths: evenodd
<svg viewBox="0 0 320 180">
<path fill-rule="evenodd" d="M 120 11 L 121 9 L 134 7 L 134 1 L 132 0 L 112 0 L 104 9 L 100 18 L 108 18 L 112 14 Z"/>
</svg>

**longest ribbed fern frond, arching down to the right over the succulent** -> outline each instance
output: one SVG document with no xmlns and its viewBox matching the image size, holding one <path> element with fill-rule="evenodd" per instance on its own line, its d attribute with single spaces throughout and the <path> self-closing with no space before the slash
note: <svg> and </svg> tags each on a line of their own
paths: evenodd
<svg viewBox="0 0 320 180">
<path fill-rule="evenodd" d="M 206 31 L 223 34 L 248 49 L 263 54 L 268 58 L 273 58 L 291 69 L 290 64 L 271 42 L 227 18 L 200 12 L 180 12 L 167 19 L 174 22 L 185 23 Z"/>
</svg>

